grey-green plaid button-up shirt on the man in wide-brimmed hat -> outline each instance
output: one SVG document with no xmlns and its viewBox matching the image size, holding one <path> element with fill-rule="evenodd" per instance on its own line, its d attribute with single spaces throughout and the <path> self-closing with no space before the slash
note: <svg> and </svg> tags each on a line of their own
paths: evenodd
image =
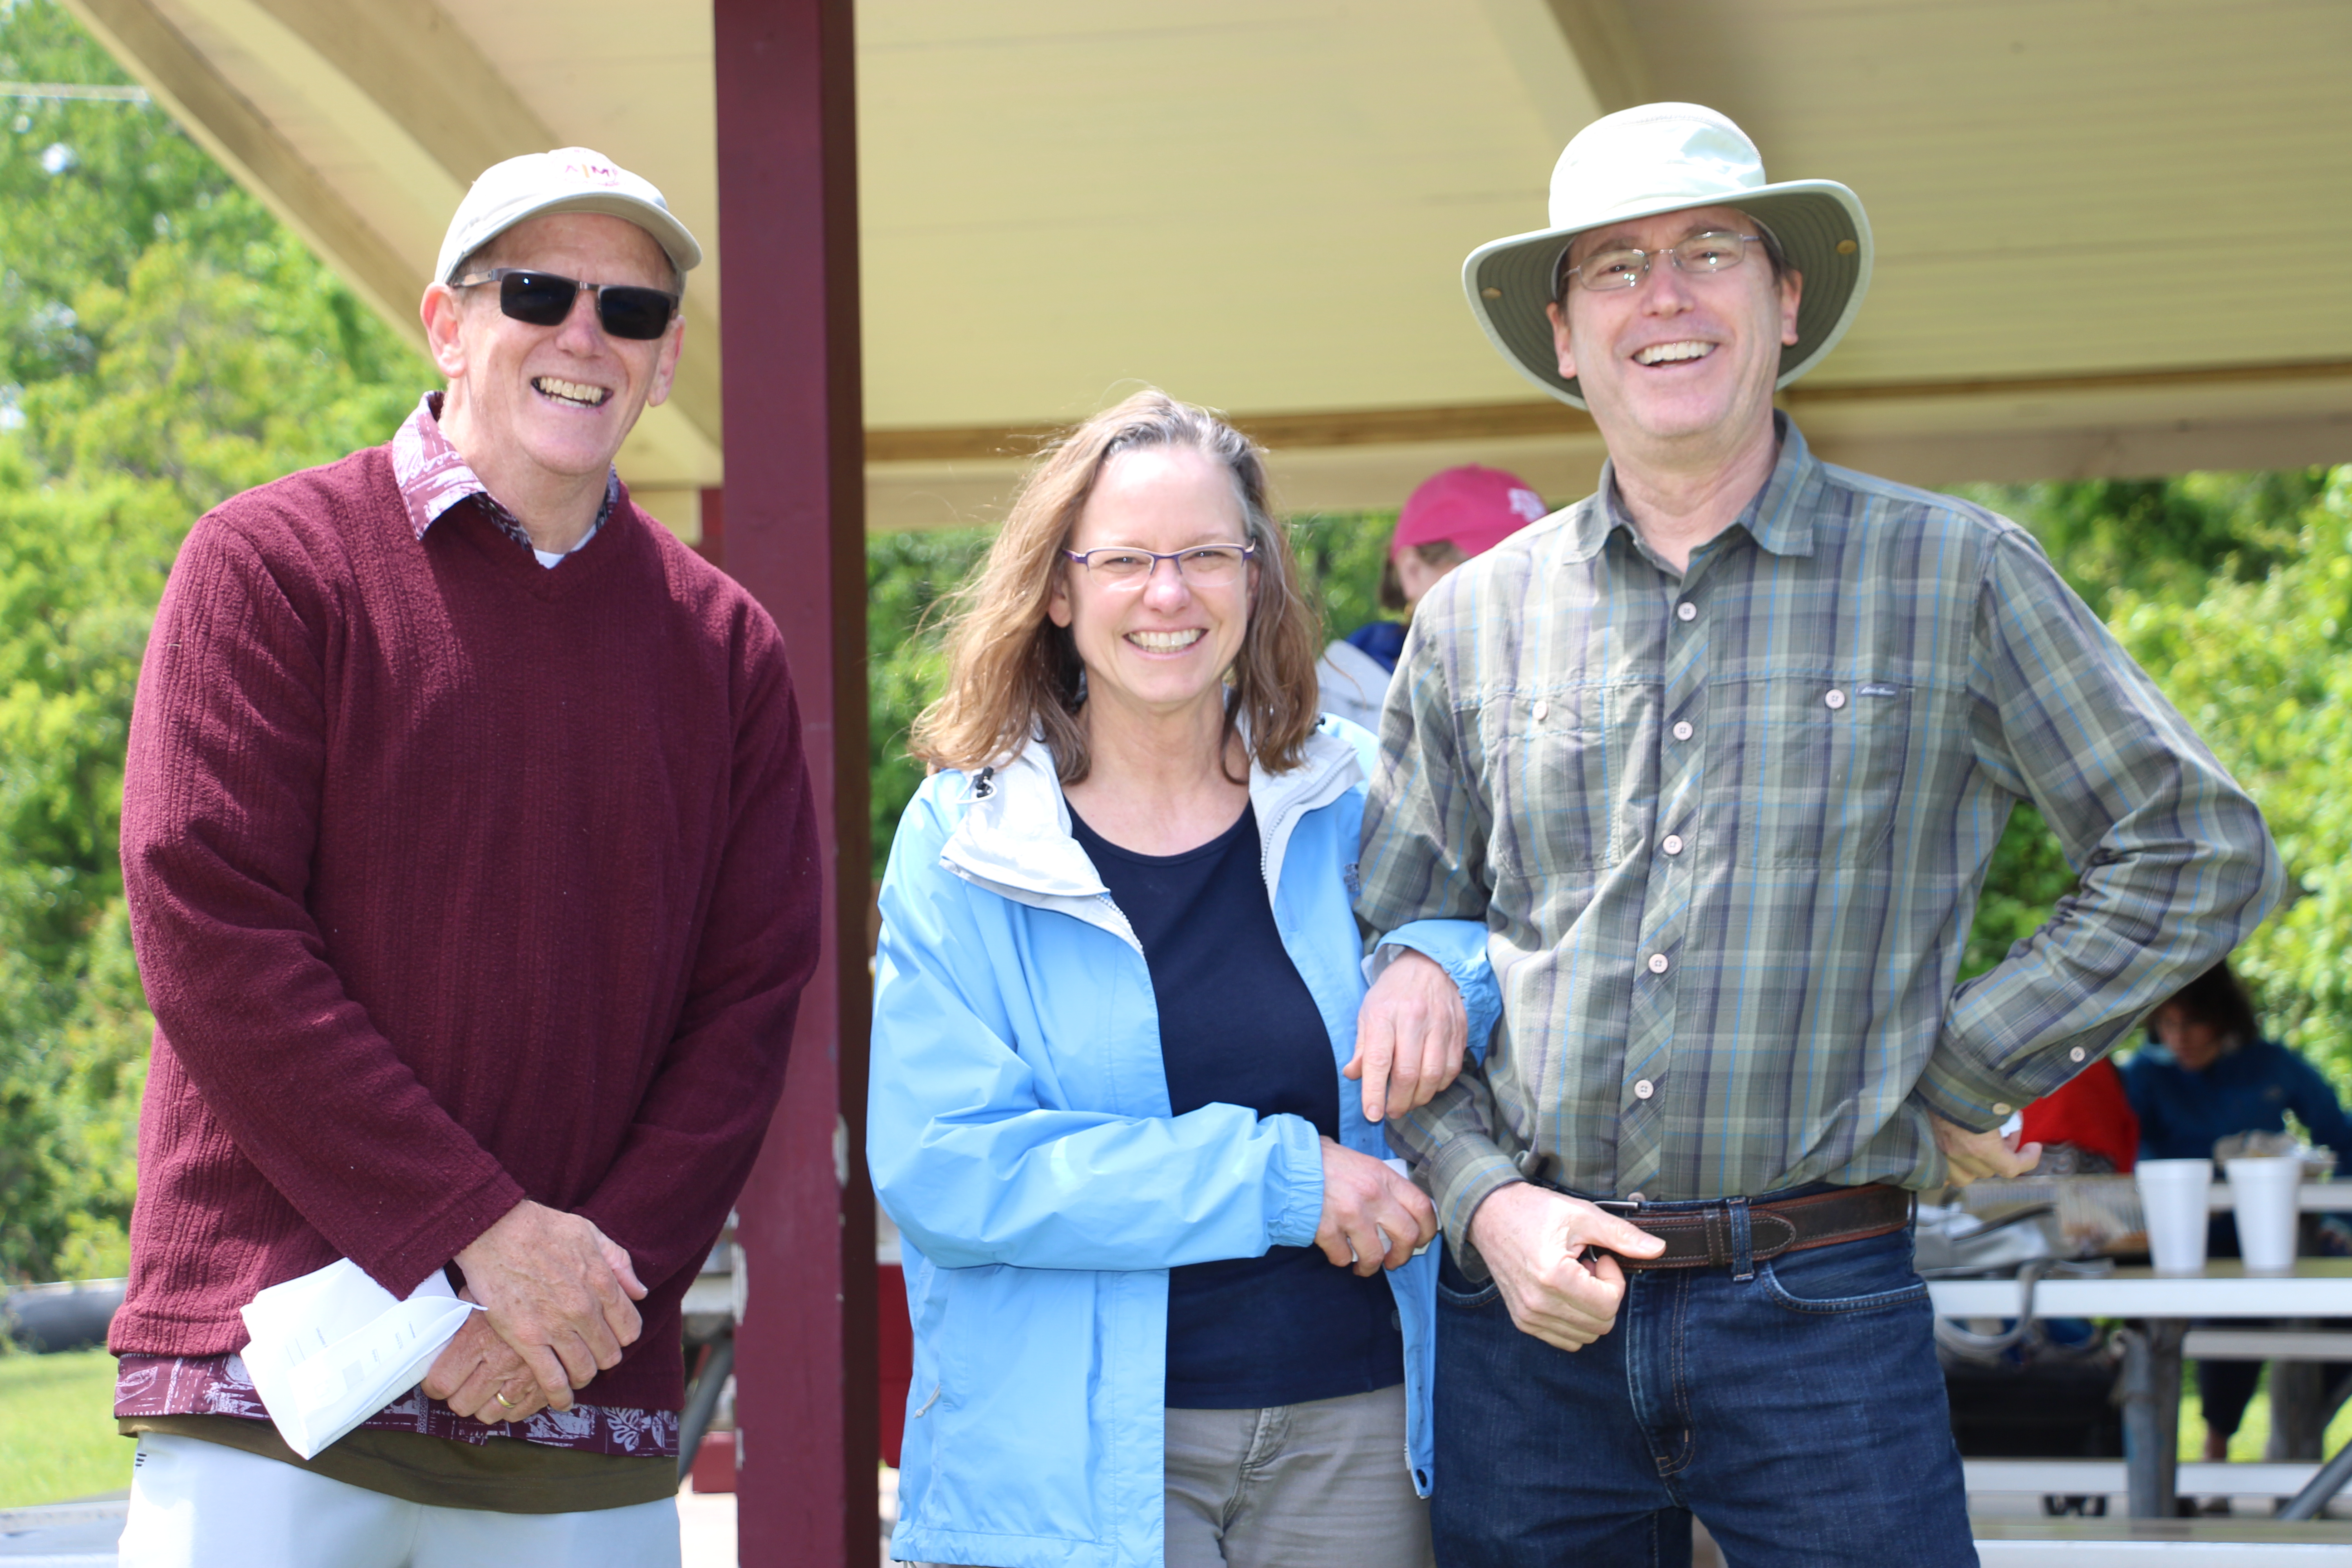
<svg viewBox="0 0 2352 1568">
<path fill-rule="evenodd" d="M 1926 1187 L 2279 896 L 2253 802 L 2025 529 L 1816 461 L 1675 574 L 1597 496 L 1414 616 L 1364 816 L 1371 931 L 1484 919 L 1503 1025 L 1392 1124 L 1456 1246 L 1595 1197 Z M 2082 870 L 1955 987 L 2018 799 Z"/>
</svg>

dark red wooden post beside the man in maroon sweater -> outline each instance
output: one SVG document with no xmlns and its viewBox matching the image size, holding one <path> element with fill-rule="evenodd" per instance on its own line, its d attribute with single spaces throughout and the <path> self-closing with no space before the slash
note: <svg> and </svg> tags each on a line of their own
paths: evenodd
<svg viewBox="0 0 2352 1568">
<path fill-rule="evenodd" d="M 866 1185 L 866 480 L 851 0 L 713 0 L 727 491 L 720 559 L 783 628 L 828 952 L 743 1192 L 739 1561 L 875 1563 Z"/>
</svg>

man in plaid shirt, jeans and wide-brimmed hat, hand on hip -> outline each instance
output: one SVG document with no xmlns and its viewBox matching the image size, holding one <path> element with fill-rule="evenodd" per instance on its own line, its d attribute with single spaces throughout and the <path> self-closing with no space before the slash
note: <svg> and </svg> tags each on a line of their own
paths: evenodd
<svg viewBox="0 0 2352 1568">
<path fill-rule="evenodd" d="M 1383 950 L 1362 1027 L 1444 1222 L 1449 1566 L 1689 1561 L 1693 1514 L 1740 1563 L 1973 1563 L 1910 1190 L 2030 1168 L 2009 1114 L 2279 896 L 2020 527 L 1773 411 L 1867 275 L 1851 190 L 1689 103 L 1588 127 L 1552 226 L 1465 263 L 1609 465 L 1423 599 L 1364 818 L 1367 929 L 1484 919 L 1505 999 L 1435 1098 L 1388 1044 L 1449 1016 L 1435 964 Z M 1957 985 L 2027 799 L 2082 886 Z"/>
</svg>

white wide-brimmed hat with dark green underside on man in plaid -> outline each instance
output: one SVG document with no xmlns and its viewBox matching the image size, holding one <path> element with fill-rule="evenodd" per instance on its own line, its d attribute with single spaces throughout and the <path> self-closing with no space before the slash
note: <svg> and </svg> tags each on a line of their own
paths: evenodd
<svg viewBox="0 0 2352 1568">
<path fill-rule="evenodd" d="M 1463 261 L 1472 315 L 1522 376 L 1564 404 L 1585 407 L 1576 378 L 1559 374 L 1552 322 L 1543 315 L 1559 259 L 1588 228 L 1682 207 L 1738 207 L 1773 233 L 1804 275 L 1797 341 L 1780 348 L 1773 386 L 1813 369 L 1846 336 L 1870 287 L 1863 197 L 1835 179 L 1766 183 L 1764 155 L 1748 132 L 1700 103 L 1642 103 L 1576 132 L 1552 167 L 1552 226 L 1491 240 Z"/>
</svg>

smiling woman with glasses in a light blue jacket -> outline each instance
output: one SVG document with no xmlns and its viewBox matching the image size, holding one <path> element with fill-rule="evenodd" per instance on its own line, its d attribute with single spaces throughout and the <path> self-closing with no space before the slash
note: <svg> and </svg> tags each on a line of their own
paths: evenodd
<svg viewBox="0 0 2352 1568">
<path fill-rule="evenodd" d="M 1371 738 L 1312 670 L 1263 456 L 1162 393 L 1042 458 L 953 611 L 875 964 L 901 1561 L 1430 1561 L 1437 1222 L 1341 1077 L 1423 1103 L 1498 999 L 1482 926 L 1409 926 L 1376 961 L 1461 997 L 1355 1060 Z"/>
</svg>

